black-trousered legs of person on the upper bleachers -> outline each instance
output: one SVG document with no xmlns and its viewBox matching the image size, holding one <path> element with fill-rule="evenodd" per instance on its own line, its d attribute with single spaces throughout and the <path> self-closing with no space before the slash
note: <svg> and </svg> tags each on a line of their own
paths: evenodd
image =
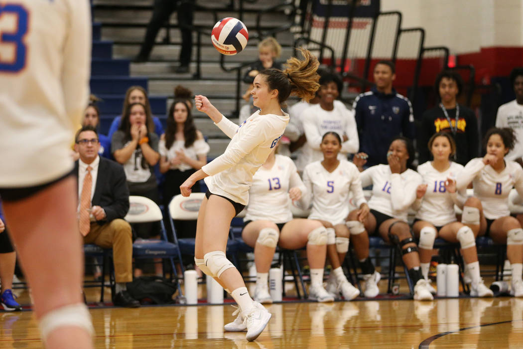
<svg viewBox="0 0 523 349">
<path fill-rule="evenodd" d="M 178 27 L 181 31 L 180 65 L 176 73 L 188 73 L 192 51 L 192 19 L 194 17 L 195 2 L 190 0 L 154 0 L 153 15 L 145 38 L 140 48 L 140 53 L 134 59 L 136 63 L 149 60 L 149 56 L 156 40 L 156 35 L 162 26 L 169 20 L 170 15 L 176 11 Z"/>
</svg>

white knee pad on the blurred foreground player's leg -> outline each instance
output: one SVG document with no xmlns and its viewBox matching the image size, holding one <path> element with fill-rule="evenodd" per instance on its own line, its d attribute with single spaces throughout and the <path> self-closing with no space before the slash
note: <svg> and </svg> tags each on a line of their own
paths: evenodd
<svg viewBox="0 0 523 349">
<path fill-rule="evenodd" d="M 59 327 L 74 326 L 86 330 L 93 335 L 94 328 L 91 315 L 84 303 L 76 303 L 51 310 L 38 322 L 40 335 L 45 342 L 49 333 Z"/>
</svg>

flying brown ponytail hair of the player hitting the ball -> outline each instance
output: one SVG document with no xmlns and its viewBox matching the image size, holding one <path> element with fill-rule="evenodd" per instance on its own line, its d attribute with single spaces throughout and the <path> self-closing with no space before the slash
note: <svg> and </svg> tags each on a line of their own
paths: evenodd
<svg viewBox="0 0 523 349">
<path fill-rule="evenodd" d="M 260 72 L 264 75 L 269 89 L 278 90 L 278 102 L 283 104 L 289 96 L 296 95 L 304 100 L 314 98 L 320 84 L 320 75 L 316 73 L 320 63 L 314 55 L 306 49 L 298 49 L 303 55 L 303 59 L 291 57 L 287 60 L 287 68 L 284 71 L 279 69 L 265 69 Z"/>
</svg>

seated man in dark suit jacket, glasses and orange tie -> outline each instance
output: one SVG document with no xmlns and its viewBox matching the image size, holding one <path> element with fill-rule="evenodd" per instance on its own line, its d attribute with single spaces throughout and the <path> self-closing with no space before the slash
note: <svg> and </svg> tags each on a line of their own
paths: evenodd
<svg viewBox="0 0 523 349">
<path fill-rule="evenodd" d="M 96 129 L 84 126 L 76 133 L 74 148 L 79 154 L 74 173 L 78 176 L 78 220 L 84 243 L 112 248 L 116 295 L 120 307 L 139 307 L 127 292 L 132 281 L 131 226 L 123 220 L 129 210 L 129 189 L 123 168 L 98 155 Z"/>
</svg>

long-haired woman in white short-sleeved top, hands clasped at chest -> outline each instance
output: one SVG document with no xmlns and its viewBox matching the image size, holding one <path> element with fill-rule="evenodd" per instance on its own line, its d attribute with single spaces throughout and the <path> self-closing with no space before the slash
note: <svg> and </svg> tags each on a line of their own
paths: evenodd
<svg viewBox="0 0 523 349">
<path fill-rule="evenodd" d="M 160 139 L 160 172 L 165 174 L 163 186 L 164 207 L 168 207 L 173 196 L 180 194 L 180 185 L 201 166 L 207 164 L 209 144 L 203 134 L 196 129 L 191 110 L 185 99 L 175 99 L 167 115 L 167 128 Z M 195 193 L 200 192 L 198 185 L 192 187 Z M 194 222 L 191 222 L 194 223 Z M 189 231 L 194 237 L 196 223 Z M 167 224 L 170 229 L 170 224 Z M 178 234 L 187 231 L 187 224 L 175 221 Z M 184 236 L 185 237 L 185 236 Z"/>
</svg>

